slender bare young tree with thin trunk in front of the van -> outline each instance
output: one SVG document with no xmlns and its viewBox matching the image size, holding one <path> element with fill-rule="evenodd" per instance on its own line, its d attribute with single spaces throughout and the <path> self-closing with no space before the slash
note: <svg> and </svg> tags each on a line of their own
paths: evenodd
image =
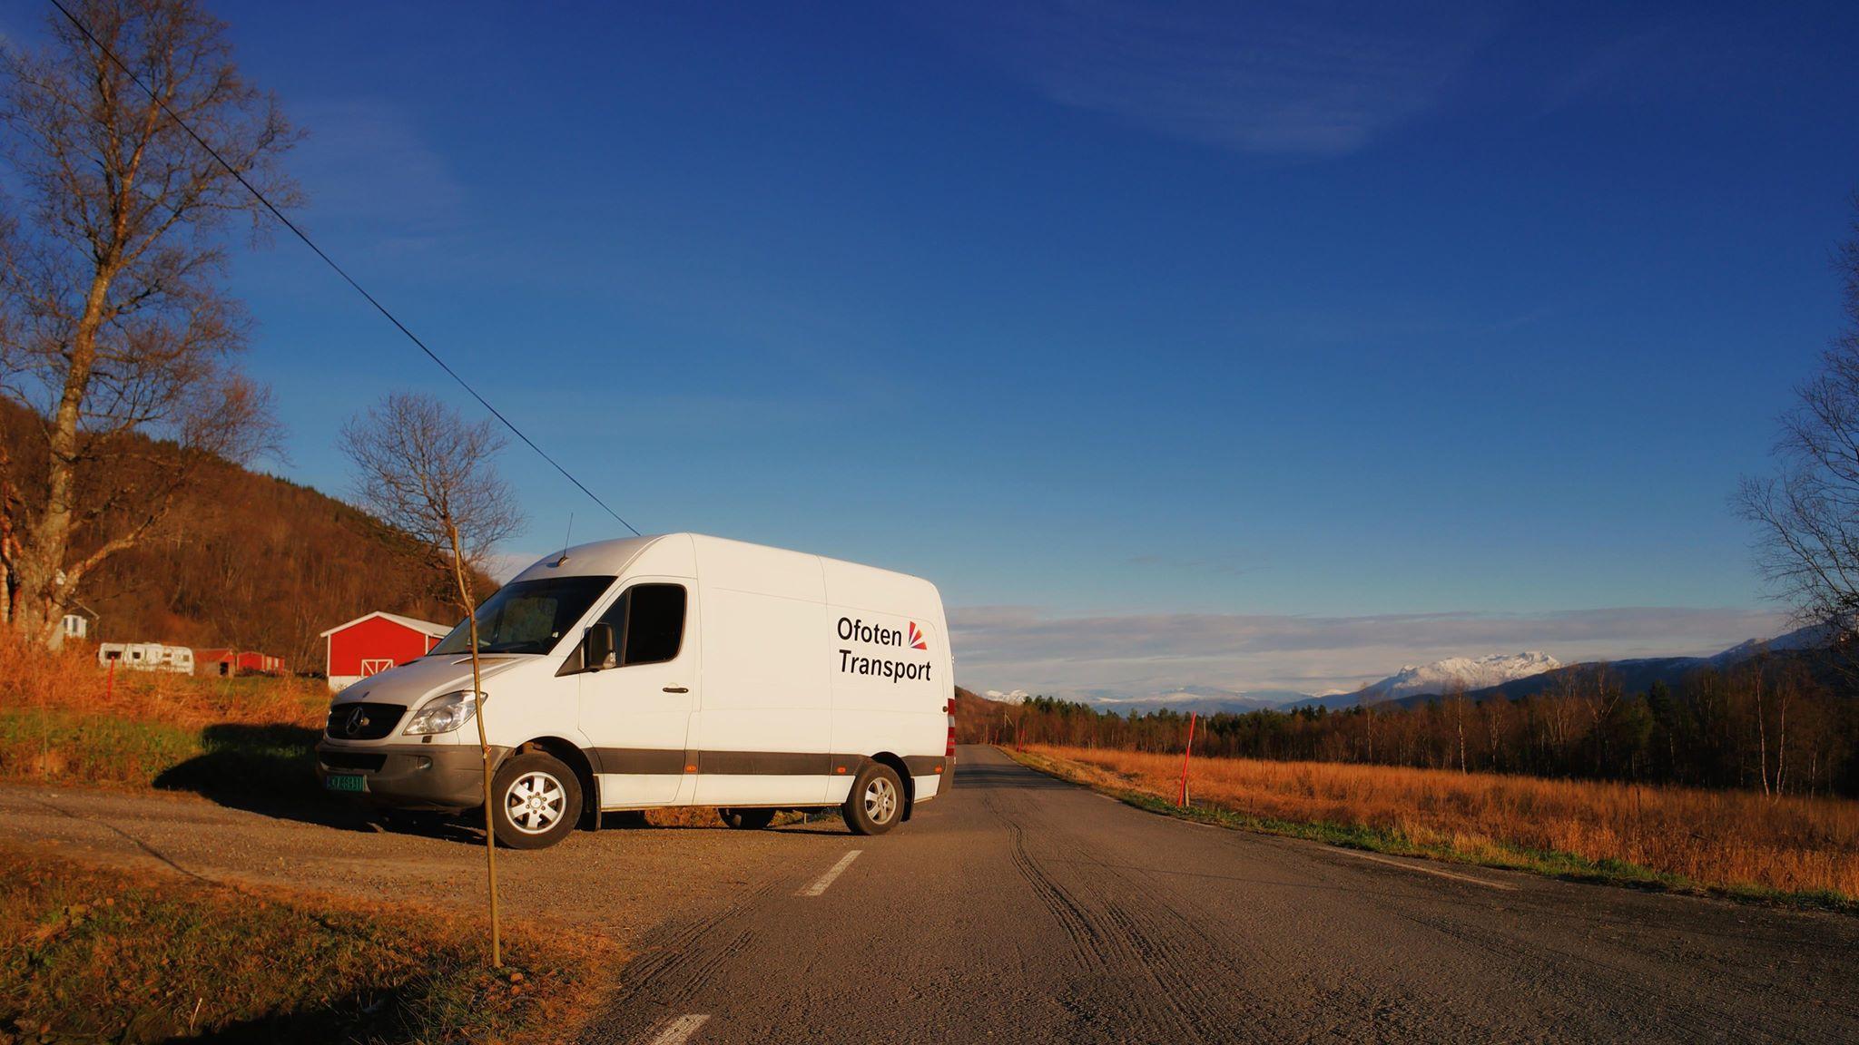
<svg viewBox="0 0 1859 1045">
<path fill-rule="evenodd" d="M 491 740 L 478 666 L 478 601 L 472 575 L 491 549 L 522 526 L 509 485 L 493 457 L 504 437 L 489 420 L 467 422 L 431 396 L 390 394 L 342 426 L 342 452 L 355 463 L 357 500 L 381 522 L 411 534 L 450 567 L 457 604 L 470 627 L 470 688 L 478 694 L 478 747 L 483 755 L 483 844 L 491 894 L 491 965 L 502 965 L 496 904 L 496 826 L 491 803 Z"/>
</svg>

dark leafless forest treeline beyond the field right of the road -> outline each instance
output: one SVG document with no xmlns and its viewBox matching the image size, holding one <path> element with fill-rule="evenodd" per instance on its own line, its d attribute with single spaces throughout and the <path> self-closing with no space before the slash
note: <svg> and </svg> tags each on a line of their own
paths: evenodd
<svg viewBox="0 0 1859 1045">
<path fill-rule="evenodd" d="M 1180 751 L 1188 714 L 1128 716 L 1052 697 L 957 699 L 963 742 Z M 1539 777 L 1677 783 L 1766 794 L 1859 796 L 1859 701 L 1811 655 L 1766 655 L 1625 692 L 1606 666 L 1558 673 L 1543 694 L 1411 707 L 1221 712 L 1197 755 L 1366 762 Z"/>
</svg>

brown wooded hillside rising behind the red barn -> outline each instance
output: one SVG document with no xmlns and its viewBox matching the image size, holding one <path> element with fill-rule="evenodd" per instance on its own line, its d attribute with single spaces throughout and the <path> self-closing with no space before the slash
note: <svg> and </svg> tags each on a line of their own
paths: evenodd
<svg viewBox="0 0 1859 1045">
<path fill-rule="evenodd" d="M 0 402 L 0 450 L 43 467 L 28 411 Z M 173 452 L 121 437 L 123 467 Z M 78 593 L 97 614 L 91 640 L 165 642 L 271 653 L 292 671 L 323 669 L 320 634 L 372 610 L 439 623 L 463 617 L 450 580 L 403 534 L 307 485 L 208 461 L 160 526 L 106 560 Z M 496 584 L 480 576 L 481 597 Z"/>
</svg>

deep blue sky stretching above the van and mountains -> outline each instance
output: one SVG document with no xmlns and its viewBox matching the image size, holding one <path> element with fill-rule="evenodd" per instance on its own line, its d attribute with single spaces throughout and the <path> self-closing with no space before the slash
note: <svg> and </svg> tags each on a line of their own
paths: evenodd
<svg viewBox="0 0 1859 1045">
<path fill-rule="evenodd" d="M 641 530 L 930 576 L 965 684 L 1781 627 L 1727 495 L 1839 331 L 1850 4 L 216 11 L 303 225 L 493 402 Z M 234 288 L 279 470 L 465 403 L 299 245 Z M 617 532 L 504 463 L 511 554 Z"/>
</svg>

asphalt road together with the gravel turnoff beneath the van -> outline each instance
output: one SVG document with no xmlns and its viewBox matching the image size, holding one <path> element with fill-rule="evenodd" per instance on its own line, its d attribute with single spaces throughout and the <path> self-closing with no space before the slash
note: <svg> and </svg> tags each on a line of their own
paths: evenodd
<svg viewBox="0 0 1859 1045">
<path fill-rule="evenodd" d="M 340 809 L 9 785 L 0 840 L 481 904 L 478 835 Z M 498 874 L 509 917 L 634 954 L 606 1012 L 580 1013 L 589 1045 L 1859 1041 L 1859 919 L 1205 827 L 987 747 L 879 839 L 837 820 L 608 829 L 506 850 Z"/>
</svg>

